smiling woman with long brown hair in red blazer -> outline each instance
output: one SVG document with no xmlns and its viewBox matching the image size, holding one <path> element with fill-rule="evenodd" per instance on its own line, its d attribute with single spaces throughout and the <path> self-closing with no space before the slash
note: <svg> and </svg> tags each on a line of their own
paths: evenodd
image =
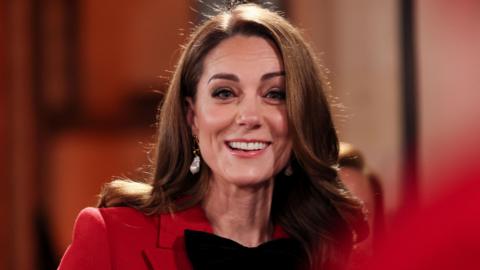
<svg viewBox="0 0 480 270">
<path fill-rule="evenodd" d="M 200 25 L 160 109 L 152 179 L 108 184 L 60 269 L 344 266 L 367 225 L 332 167 L 319 74 L 272 11 L 242 4 Z"/>
</svg>

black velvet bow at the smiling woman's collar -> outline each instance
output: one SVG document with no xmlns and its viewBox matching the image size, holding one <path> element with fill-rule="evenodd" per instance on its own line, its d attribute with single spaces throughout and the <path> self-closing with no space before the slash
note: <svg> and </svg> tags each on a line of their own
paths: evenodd
<svg viewBox="0 0 480 270">
<path fill-rule="evenodd" d="M 280 238 L 249 248 L 214 234 L 185 230 L 185 247 L 194 270 L 298 269 L 301 244 Z"/>
</svg>

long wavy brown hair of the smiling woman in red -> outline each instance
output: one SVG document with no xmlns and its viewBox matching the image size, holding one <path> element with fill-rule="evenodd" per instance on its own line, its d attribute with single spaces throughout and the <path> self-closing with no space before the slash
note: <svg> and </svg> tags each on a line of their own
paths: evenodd
<svg viewBox="0 0 480 270">
<path fill-rule="evenodd" d="M 285 69 L 294 173 L 275 176 L 272 222 L 302 243 L 307 267 L 341 268 L 355 239 L 368 233 L 368 225 L 362 205 L 349 195 L 337 176 L 338 139 L 322 70 L 299 30 L 278 13 L 255 4 L 230 7 L 194 30 L 159 109 L 150 179 L 110 182 L 98 206 L 129 206 L 158 214 L 200 203 L 211 171 L 208 166 L 202 166 L 195 175 L 189 171 L 194 140 L 186 120 L 186 98 L 195 99 L 205 56 L 235 35 L 259 36 L 273 42 Z"/>
</svg>

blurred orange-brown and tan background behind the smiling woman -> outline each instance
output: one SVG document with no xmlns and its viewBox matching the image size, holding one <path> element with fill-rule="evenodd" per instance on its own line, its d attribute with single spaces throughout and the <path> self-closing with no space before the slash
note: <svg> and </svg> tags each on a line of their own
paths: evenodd
<svg viewBox="0 0 480 270">
<path fill-rule="evenodd" d="M 0 1 L 0 269 L 56 268 L 102 184 L 146 164 L 180 44 L 223 1 L 202 2 Z M 478 150 L 480 1 L 269 2 L 328 68 L 387 224 Z"/>
</svg>

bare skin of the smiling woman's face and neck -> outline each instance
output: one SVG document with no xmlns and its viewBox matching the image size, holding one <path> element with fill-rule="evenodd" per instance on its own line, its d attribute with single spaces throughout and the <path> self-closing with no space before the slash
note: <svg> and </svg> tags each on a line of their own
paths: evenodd
<svg viewBox="0 0 480 270">
<path fill-rule="evenodd" d="M 245 246 L 271 238 L 274 176 L 291 155 L 284 79 L 271 42 L 237 35 L 207 54 L 195 100 L 187 99 L 188 121 L 212 172 L 203 208 L 215 234 Z M 232 142 L 264 148 L 243 151 Z"/>
</svg>

